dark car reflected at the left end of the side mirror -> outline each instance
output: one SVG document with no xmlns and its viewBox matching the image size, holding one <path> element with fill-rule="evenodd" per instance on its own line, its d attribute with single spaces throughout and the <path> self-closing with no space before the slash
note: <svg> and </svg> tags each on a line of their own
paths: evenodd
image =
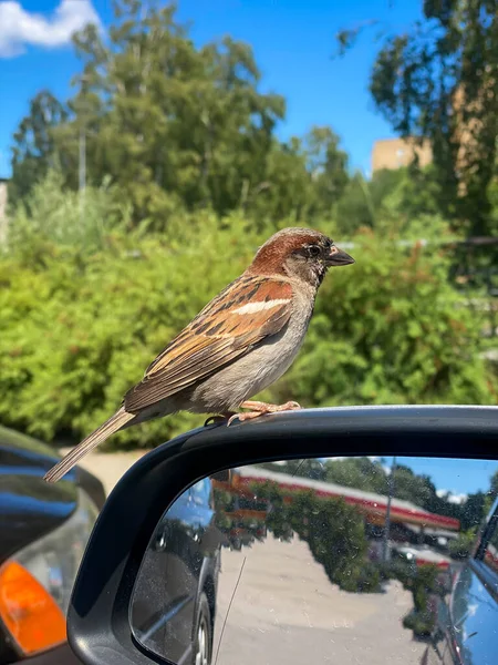
<svg viewBox="0 0 498 665">
<path fill-rule="evenodd" d="M 205 478 L 163 515 L 144 557 L 131 612 L 135 637 L 144 646 L 188 663 L 201 594 L 209 604 L 212 640 L 222 538 L 211 481 Z"/>
</svg>

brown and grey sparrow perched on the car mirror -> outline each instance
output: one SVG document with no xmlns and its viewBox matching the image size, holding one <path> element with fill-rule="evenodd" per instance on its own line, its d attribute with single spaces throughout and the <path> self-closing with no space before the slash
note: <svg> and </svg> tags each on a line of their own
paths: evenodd
<svg viewBox="0 0 498 665">
<path fill-rule="evenodd" d="M 228 424 L 299 409 L 249 398 L 280 378 L 308 330 L 317 293 L 329 268 L 354 259 L 322 233 L 284 228 L 251 265 L 156 357 L 120 407 L 45 475 L 56 482 L 115 432 L 177 411 L 218 413 Z M 237 409 L 249 409 L 237 413 Z"/>
</svg>

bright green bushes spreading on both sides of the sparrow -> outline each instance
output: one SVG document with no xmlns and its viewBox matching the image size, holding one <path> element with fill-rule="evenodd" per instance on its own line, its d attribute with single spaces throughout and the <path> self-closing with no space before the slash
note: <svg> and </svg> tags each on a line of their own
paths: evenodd
<svg viewBox="0 0 498 665">
<path fill-rule="evenodd" d="M 0 258 L 0 419 L 46 439 L 77 439 L 108 417 L 268 237 L 240 214 L 207 211 L 177 213 L 168 234 L 126 231 L 128 208 L 105 187 L 86 191 L 84 209 L 82 218 L 76 195 L 49 174 L 17 207 Z M 262 397 L 492 403 L 481 323 L 447 283 L 444 257 L 372 234 L 354 239 L 354 269 L 331 270 L 297 362 Z M 181 413 L 110 444 L 155 446 L 201 422 Z"/>
</svg>

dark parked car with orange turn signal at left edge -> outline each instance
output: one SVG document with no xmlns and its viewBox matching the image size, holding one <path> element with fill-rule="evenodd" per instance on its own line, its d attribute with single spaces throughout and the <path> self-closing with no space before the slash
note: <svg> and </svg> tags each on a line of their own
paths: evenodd
<svg viewBox="0 0 498 665">
<path fill-rule="evenodd" d="M 105 492 L 82 469 L 45 483 L 55 461 L 51 448 L 0 427 L 0 665 L 80 663 L 65 614 Z"/>
</svg>

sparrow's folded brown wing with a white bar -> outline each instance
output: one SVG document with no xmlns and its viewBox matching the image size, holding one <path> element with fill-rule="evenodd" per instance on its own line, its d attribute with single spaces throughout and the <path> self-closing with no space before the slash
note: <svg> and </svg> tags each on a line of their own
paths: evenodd
<svg viewBox="0 0 498 665">
<path fill-rule="evenodd" d="M 211 300 L 128 390 L 123 406 L 137 412 L 215 374 L 287 325 L 292 287 L 242 276 Z"/>
</svg>

